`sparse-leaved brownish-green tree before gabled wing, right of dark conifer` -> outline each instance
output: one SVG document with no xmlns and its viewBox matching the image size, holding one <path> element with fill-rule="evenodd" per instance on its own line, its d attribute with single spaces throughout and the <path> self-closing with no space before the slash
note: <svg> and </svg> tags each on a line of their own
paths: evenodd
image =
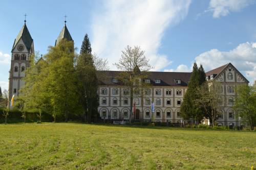
<svg viewBox="0 0 256 170">
<path fill-rule="evenodd" d="M 218 103 L 221 98 L 220 84 L 212 81 L 210 84 L 205 82 L 203 85 L 197 87 L 197 93 L 199 98 L 196 100 L 196 107 L 201 109 L 205 114 L 205 117 L 209 117 L 212 127 L 215 126 L 216 119 L 220 110 Z"/>
</svg>

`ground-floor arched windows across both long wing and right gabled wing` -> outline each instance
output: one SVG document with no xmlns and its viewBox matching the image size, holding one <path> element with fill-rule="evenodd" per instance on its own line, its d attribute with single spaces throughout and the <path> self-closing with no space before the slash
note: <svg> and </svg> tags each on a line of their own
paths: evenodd
<svg viewBox="0 0 256 170">
<path fill-rule="evenodd" d="M 109 115 L 109 116 L 110 116 L 110 115 Z M 106 117 L 106 110 L 103 110 L 103 111 L 102 111 L 102 117 Z M 112 111 L 112 117 L 116 117 L 116 118 L 117 118 L 117 110 L 113 110 L 113 111 Z M 129 111 L 125 110 L 125 111 L 123 112 L 123 117 L 124 117 L 124 118 L 129 118 Z M 146 118 L 150 118 L 150 117 L 151 117 L 150 111 L 147 110 L 147 111 L 145 112 L 145 117 L 146 117 Z M 156 117 L 157 117 L 157 118 L 158 118 L 158 117 L 161 117 L 161 112 L 160 112 L 160 111 L 156 111 Z M 167 117 L 167 118 L 171 118 L 171 117 L 172 117 L 172 112 L 171 112 L 171 111 L 167 111 L 167 112 L 166 112 L 166 117 Z M 177 112 L 177 117 L 181 117 L 179 111 Z M 110 118 L 110 117 L 109 117 L 109 118 Z M 223 119 L 223 113 L 219 113 L 219 114 L 218 114 L 218 118 L 219 118 L 219 119 Z M 228 112 L 228 118 L 234 118 L 234 113 L 233 113 L 232 111 L 229 111 L 229 112 Z"/>
</svg>

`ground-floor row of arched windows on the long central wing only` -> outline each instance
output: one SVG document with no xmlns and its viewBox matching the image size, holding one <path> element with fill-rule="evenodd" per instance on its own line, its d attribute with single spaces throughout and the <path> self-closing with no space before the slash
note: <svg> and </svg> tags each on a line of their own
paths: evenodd
<svg viewBox="0 0 256 170">
<path fill-rule="evenodd" d="M 106 110 L 103 110 L 101 113 L 102 113 L 102 114 L 101 114 L 101 117 L 103 117 L 103 118 L 104 118 L 104 117 L 107 117 L 107 116 L 106 116 Z M 125 111 L 123 112 L 123 117 L 124 117 L 124 118 L 129 118 L 129 115 L 130 115 L 130 114 L 129 114 L 129 111 L 125 110 Z M 111 116 L 110 114 L 109 114 L 108 116 L 109 116 L 109 118 L 111 118 L 111 117 L 110 117 L 110 116 Z M 117 118 L 117 116 L 118 116 L 118 111 L 117 111 L 117 110 L 113 110 L 113 111 L 112 111 L 112 117 Z M 150 117 L 151 117 L 150 111 L 146 111 L 146 112 L 145 112 L 145 117 L 146 117 L 146 118 L 150 118 Z M 157 117 L 157 118 L 161 117 L 161 112 L 160 112 L 160 111 L 156 111 L 156 117 Z M 167 118 L 171 118 L 171 117 L 172 117 L 172 112 L 167 111 L 167 112 L 166 112 L 166 117 L 167 117 Z M 179 118 L 181 117 L 179 111 L 177 112 L 177 117 L 179 117 Z"/>
</svg>

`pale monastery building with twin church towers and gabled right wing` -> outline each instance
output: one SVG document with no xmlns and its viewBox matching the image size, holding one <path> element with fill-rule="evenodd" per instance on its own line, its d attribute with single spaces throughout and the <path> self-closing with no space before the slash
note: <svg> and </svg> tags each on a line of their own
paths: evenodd
<svg viewBox="0 0 256 170">
<path fill-rule="evenodd" d="M 61 30 L 55 45 L 61 39 L 73 41 L 66 26 Z M 26 22 L 14 40 L 12 47 L 11 68 L 9 71 L 9 107 L 12 96 L 20 95 L 19 89 L 24 85 L 22 80 L 25 77 L 25 70 L 29 67 L 29 58 L 34 55 L 33 39 L 28 31 Z M 157 72 L 151 71 L 145 83 L 150 84 L 146 92 L 134 94 L 133 101 L 130 101 L 130 92 L 124 85 L 118 82 L 120 71 L 103 71 L 104 79 L 100 80 L 98 89 L 99 107 L 98 111 L 102 119 L 129 120 L 130 104 L 135 104 L 133 120 L 151 121 L 154 103 L 155 122 L 181 123 L 180 106 L 187 90 L 191 72 Z M 220 66 L 206 72 L 206 80 L 211 85 L 212 81 L 221 84 L 221 98 L 219 100 L 220 115 L 218 125 L 240 126 L 232 106 L 236 93 L 234 88 L 240 84 L 248 84 L 248 80 L 231 63 Z"/>
</svg>

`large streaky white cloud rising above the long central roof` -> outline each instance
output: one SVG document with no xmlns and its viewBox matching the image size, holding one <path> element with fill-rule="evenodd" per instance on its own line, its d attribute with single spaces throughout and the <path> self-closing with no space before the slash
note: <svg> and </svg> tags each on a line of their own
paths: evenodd
<svg viewBox="0 0 256 170">
<path fill-rule="evenodd" d="M 92 19 L 94 53 L 108 58 L 111 67 L 120 58 L 126 45 L 139 45 L 154 70 L 172 62 L 158 53 L 167 27 L 181 21 L 188 12 L 190 0 L 102 1 L 103 11 Z M 116 68 L 115 68 L 116 69 Z"/>
</svg>

